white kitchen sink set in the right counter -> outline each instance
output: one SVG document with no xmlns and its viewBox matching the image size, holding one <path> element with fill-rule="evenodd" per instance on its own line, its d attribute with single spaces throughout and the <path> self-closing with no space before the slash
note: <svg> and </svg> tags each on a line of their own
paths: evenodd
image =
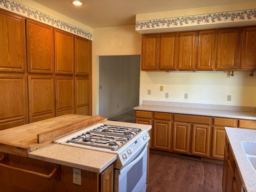
<svg viewBox="0 0 256 192">
<path fill-rule="evenodd" d="M 252 167 L 256 171 L 256 143 L 242 142 L 242 147 L 246 154 L 246 157 L 252 164 Z"/>
</svg>

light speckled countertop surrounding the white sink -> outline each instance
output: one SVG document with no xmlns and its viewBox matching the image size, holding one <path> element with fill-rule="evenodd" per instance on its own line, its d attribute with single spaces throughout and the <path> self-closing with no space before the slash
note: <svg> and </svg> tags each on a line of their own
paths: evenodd
<svg viewBox="0 0 256 192">
<path fill-rule="evenodd" d="M 242 183 L 247 192 L 256 191 L 256 171 L 250 164 L 241 142 L 256 143 L 256 130 L 225 127 L 230 148 L 237 162 Z"/>
</svg>

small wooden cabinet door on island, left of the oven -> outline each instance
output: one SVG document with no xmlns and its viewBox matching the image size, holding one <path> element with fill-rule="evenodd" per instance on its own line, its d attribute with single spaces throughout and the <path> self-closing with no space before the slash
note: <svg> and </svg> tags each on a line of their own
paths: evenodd
<svg viewBox="0 0 256 192">
<path fill-rule="evenodd" d="M 100 192 L 113 192 L 114 190 L 114 166 L 106 168 L 100 174 Z"/>
</svg>

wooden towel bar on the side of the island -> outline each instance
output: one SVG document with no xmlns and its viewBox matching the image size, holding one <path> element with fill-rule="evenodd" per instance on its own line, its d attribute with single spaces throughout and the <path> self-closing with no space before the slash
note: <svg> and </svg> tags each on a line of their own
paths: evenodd
<svg viewBox="0 0 256 192">
<path fill-rule="evenodd" d="M 7 162 L 7 157 L 4 154 L 0 158 L 0 166 L 2 166 L 2 167 L 9 168 L 9 169 L 12 169 L 12 170 L 21 171 L 21 172 L 24 172 L 24 173 L 30 173 L 30 174 L 33 174 L 33 175 L 37 175 L 37 176 L 40 176 L 40 177 L 47 178 L 48 180 L 52 180 L 53 178 L 56 178 L 57 180 L 60 180 L 60 166 L 58 164 L 55 165 L 55 168 L 52 170 L 52 172 L 49 175 L 46 175 L 46 174 L 42 174 L 42 173 L 30 171 L 30 170 L 25 170 L 25 169 L 21 169 L 21 168 L 12 167 L 12 166 L 4 164 L 6 162 Z"/>
</svg>

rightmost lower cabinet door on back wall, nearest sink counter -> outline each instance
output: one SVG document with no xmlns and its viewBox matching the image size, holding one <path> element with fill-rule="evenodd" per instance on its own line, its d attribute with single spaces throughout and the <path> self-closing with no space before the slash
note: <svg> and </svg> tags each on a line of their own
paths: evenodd
<svg viewBox="0 0 256 192">
<path fill-rule="evenodd" d="M 223 160 L 225 146 L 225 129 L 221 126 L 213 127 L 212 157 Z"/>
</svg>

